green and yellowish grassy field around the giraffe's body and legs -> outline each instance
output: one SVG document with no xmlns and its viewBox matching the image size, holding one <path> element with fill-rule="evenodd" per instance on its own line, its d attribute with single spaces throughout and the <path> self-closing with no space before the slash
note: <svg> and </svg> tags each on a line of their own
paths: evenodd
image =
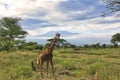
<svg viewBox="0 0 120 80">
<path fill-rule="evenodd" d="M 37 54 L 38 51 L 0 52 L 0 80 L 41 80 L 31 68 Z M 120 80 L 120 48 L 57 49 L 53 55 L 57 80 Z M 44 80 L 53 80 L 51 66 Z"/>
</svg>

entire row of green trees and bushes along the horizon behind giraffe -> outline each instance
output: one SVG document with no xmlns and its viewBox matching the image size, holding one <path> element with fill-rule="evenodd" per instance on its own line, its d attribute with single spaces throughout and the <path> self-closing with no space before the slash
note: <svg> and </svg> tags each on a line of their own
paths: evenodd
<svg viewBox="0 0 120 80">
<path fill-rule="evenodd" d="M 28 34 L 21 28 L 19 24 L 20 18 L 4 17 L 0 19 L 0 51 L 16 51 L 16 50 L 42 50 L 48 47 L 52 39 L 48 39 L 45 45 L 38 44 L 37 42 L 26 42 L 24 38 Z M 111 44 L 91 44 L 84 46 L 76 46 L 64 39 L 60 39 L 55 48 L 118 48 L 120 43 L 120 33 L 112 36 Z"/>
</svg>

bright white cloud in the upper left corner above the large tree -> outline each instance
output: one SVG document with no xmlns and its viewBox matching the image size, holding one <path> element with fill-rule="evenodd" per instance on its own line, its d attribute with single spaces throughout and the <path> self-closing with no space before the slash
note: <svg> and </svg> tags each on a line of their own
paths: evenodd
<svg viewBox="0 0 120 80">
<path fill-rule="evenodd" d="M 41 9 L 49 13 L 54 11 L 56 5 L 61 1 L 65 0 L 0 0 L 0 17 L 17 16 L 29 18 L 29 13 L 37 13 Z M 7 9 L 5 4 L 8 6 Z"/>
</svg>

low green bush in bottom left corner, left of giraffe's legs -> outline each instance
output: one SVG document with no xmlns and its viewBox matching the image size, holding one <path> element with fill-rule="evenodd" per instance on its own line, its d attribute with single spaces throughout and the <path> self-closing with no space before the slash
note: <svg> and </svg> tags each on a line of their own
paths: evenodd
<svg viewBox="0 0 120 80">
<path fill-rule="evenodd" d="M 16 66 L 16 67 L 9 67 L 3 71 L 2 78 L 4 80 L 17 80 L 21 77 L 23 78 L 31 78 L 33 76 L 32 69 L 29 66 Z"/>
</svg>

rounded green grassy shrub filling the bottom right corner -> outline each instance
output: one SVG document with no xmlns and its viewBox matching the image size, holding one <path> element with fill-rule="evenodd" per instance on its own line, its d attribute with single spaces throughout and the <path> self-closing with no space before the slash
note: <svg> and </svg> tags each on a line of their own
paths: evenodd
<svg viewBox="0 0 120 80">
<path fill-rule="evenodd" d="M 89 80 L 119 80 L 120 69 L 117 65 L 108 62 L 96 62 L 88 70 Z"/>
</svg>

